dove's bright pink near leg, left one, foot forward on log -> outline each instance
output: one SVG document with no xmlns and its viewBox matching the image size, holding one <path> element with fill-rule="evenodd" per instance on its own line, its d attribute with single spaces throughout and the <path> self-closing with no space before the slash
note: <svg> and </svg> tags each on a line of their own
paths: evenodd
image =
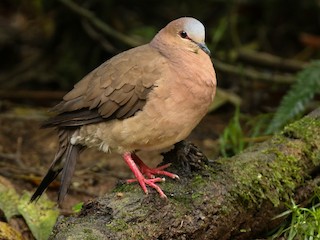
<svg viewBox="0 0 320 240">
<path fill-rule="evenodd" d="M 131 171 L 133 172 L 134 176 L 136 177 L 136 179 L 134 180 L 128 180 L 128 183 L 131 182 L 135 182 L 138 181 L 142 190 L 148 194 L 148 190 L 146 185 L 154 188 L 157 190 L 157 192 L 160 194 L 161 198 L 167 198 L 167 196 L 164 194 L 164 192 L 161 190 L 161 188 L 156 185 L 156 182 L 163 182 L 163 179 L 161 178 L 153 178 L 153 179 L 146 179 L 142 173 L 140 172 L 139 168 L 137 167 L 135 161 L 132 159 L 131 153 L 127 152 L 123 154 L 123 159 L 125 160 L 125 162 L 128 164 L 128 166 L 130 167 Z"/>
</svg>

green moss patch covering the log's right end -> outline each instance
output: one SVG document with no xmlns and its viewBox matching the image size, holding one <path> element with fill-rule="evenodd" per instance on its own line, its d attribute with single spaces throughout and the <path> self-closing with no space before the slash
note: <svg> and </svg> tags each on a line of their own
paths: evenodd
<svg viewBox="0 0 320 240">
<path fill-rule="evenodd" d="M 230 159 L 232 175 L 238 183 L 233 192 L 242 204 L 249 207 L 252 202 L 268 199 L 278 206 L 288 201 L 308 177 L 301 157 L 309 158 L 316 166 L 320 164 L 320 134 L 315 132 L 320 132 L 320 121 L 305 117 L 265 143 L 267 150 L 250 148 L 246 159 Z"/>
</svg>

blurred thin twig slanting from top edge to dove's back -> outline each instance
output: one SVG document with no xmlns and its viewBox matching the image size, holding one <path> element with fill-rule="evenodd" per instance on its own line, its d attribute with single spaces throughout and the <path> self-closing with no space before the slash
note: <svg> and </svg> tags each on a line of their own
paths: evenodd
<svg viewBox="0 0 320 240">
<path fill-rule="evenodd" d="M 125 34 L 122 34 L 118 31 L 115 31 L 112 27 L 110 27 L 105 22 L 101 21 L 99 18 L 95 16 L 95 14 L 88 9 L 85 9 L 79 5 L 77 5 L 75 2 L 71 0 L 60 0 L 65 6 L 67 6 L 69 9 L 71 9 L 73 12 L 79 14 L 81 17 L 87 19 L 93 26 L 95 26 L 97 29 L 102 31 L 103 33 L 118 39 L 130 47 L 136 47 L 141 45 L 141 42 L 132 38 L 128 37 Z"/>
</svg>

